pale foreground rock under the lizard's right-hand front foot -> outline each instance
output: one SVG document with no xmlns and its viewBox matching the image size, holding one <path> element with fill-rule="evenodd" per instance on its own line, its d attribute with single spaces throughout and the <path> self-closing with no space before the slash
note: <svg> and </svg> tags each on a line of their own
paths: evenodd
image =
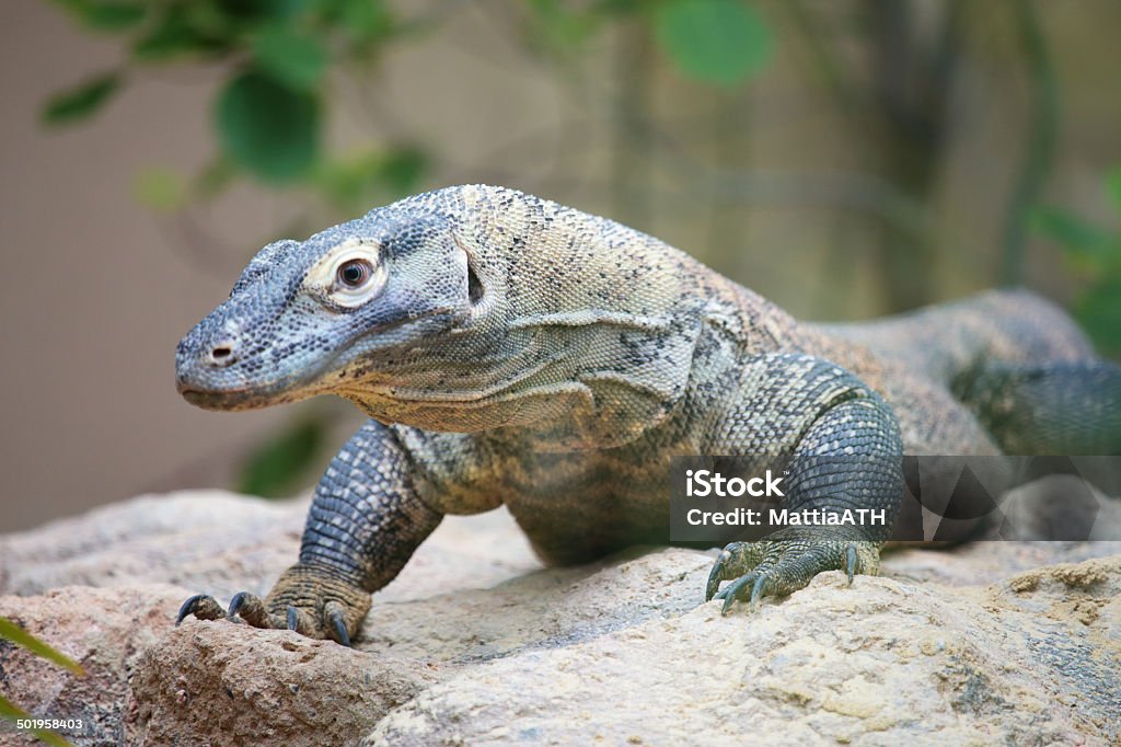
<svg viewBox="0 0 1121 747">
<path fill-rule="evenodd" d="M 569 590 L 604 616 L 426 690 L 367 740 L 401 744 L 1109 744 L 1121 713 L 1121 557 L 951 588 L 840 573 L 754 615 L 689 603 L 663 551 Z M 691 568 L 696 566 L 696 568 Z M 632 580 L 634 582 L 632 582 Z M 563 602 L 562 602 L 563 605 Z M 639 608 L 640 609 L 640 608 Z"/>
</svg>

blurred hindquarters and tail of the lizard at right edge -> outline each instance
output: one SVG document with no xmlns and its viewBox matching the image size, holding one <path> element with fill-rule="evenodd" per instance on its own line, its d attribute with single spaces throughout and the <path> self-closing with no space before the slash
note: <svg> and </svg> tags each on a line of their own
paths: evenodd
<svg viewBox="0 0 1121 747">
<path fill-rule="evenodd" d="M 1121 368 L 1034 293 L 991 290 L 822 329 L 948 387 L 1004 453 L 1121 453 Z"/>
</svg>

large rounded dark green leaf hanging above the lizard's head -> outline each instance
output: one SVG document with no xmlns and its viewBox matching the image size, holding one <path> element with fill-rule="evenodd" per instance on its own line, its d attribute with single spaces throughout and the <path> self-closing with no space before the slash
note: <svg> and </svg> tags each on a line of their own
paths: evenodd
<svg viewBox="0 0 1121 747">
<path fill-rule="evenodd" d="M 259 71 L 226 83 L 217 98 L 215 123 L 231 160 L 265 182 L 298 179 L 318 154 L 318 100 Z"/>
</svg>

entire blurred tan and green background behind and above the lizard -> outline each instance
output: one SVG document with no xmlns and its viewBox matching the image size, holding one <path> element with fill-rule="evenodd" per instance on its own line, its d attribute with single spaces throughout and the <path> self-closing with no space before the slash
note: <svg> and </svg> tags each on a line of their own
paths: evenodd
<svg viewBox="0 0 1121 747">
<path fill-rule="evenodd" d="M 610 215 L 802 316 L 1007 282 L 1121 347 L 1113 0 L 10 0 L 4 21 L 0 531 L 309 485 L 358 416 L 194 409 L 175 344 L 266 241 L 447 184 Z"/>
</svg>

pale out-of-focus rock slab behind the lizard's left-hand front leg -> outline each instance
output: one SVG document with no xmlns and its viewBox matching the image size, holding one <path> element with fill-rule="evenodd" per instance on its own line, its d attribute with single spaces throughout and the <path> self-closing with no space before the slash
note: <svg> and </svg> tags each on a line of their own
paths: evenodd
<svg viewBox="0 0 1121 747">
<path fill-rule="evenodd" d="M 182 491 L 52 522 L 0 537 L 0 593 L 151 582 L 226 599 L 239 591 L 265 593 L 295 562 L 309 502 Z M 529 543 L 504 513 L 451 516 L 383 593 L 427 597 L 452 580 L 488 587 L 537 568 Z"/>
</svg>

